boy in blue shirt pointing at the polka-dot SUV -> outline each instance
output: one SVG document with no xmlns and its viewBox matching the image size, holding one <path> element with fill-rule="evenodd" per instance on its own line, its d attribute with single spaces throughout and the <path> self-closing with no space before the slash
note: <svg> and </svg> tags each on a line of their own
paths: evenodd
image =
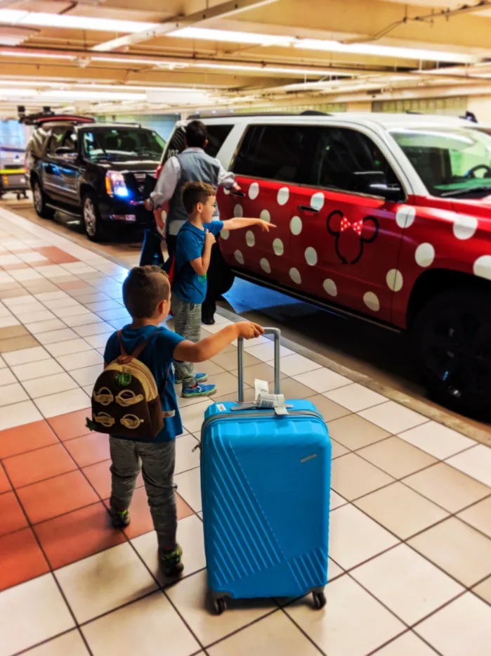
<svg viewBox="0 0 491 656">
<path fill-rule="evenodd" d="M 183 188 L 183 205 L 188 221 L 178 232 L 176 268 L 172 283 L 172 314 L 176 333 L 191 342 L 201 336 L 201 305 L 207 295 L 207 271 L 211 247 L 222 230 L 240 230 L 261 226 L 268 232 L 275 228 L 262 219 L 228 219 L 214 221 L 216 191 L 204 182 L 188 182 Z M 206 373 L 195 373 L 192 361 L 176 363 L 176 383 L 181 382 L 185 399 L 204 397 L 216 392 L 216 385 L 204 385 Z"/>
</svg>

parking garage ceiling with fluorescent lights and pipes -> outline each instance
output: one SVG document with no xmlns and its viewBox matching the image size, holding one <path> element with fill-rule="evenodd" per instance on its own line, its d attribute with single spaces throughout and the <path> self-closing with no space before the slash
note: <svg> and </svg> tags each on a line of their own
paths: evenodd
<svg viewBox="0 0 491 656">
<path fill-rule="evenodd" d="M 488 0 L 0 0 L 0 116 L 486 94 L 490 34 Z"/>
</svg>

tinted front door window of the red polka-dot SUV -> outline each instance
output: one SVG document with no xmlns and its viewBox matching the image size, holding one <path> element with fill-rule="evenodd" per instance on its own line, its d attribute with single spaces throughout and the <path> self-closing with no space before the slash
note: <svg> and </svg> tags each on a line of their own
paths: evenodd
<svg viewBox="0 0 491 656">
<path fill-rule="evenodd" d="M 368 171 L 383 172 L 387 184 L 399 184 L 381 150 L 365 134 L 338 127 L 320 129 L 313 156 L 311 184 L 357 191 L 355 174 Z"/>
</svg>

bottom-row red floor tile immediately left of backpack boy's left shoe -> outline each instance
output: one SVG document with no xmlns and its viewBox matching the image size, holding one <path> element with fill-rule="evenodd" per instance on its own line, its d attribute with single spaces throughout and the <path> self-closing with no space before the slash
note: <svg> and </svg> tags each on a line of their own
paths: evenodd
<svg viewBox="0 0 491 656">
<path fill-rule="evenodd" d="M 37 524 L 34 531 L 53 570 L 125 541 L 100 502 Z"/>
</svg>

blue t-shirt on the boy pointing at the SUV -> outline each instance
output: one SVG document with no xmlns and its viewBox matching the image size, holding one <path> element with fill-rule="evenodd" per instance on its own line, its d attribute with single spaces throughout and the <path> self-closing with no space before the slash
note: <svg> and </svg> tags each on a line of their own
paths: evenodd
<svg viewBox="0 0 491 656">
<path fill-rule="evenodd" d="M 202 257 L 204 250 L 204 238 L 209 230 L 214 236 L 218 236 L 223 229 L 223 221 L 211 221 L 205 224 L 204 230 L 199 230 L 189 221 L 186 221 L 177 235 L 176 243 L 176 273 L 172 283 L 172 292 L 188 303 L 197 305 L 204 301 L 207 295 L 207 274 L 198 276 L 190 262 L 197 257 Z"/>
</svg>

